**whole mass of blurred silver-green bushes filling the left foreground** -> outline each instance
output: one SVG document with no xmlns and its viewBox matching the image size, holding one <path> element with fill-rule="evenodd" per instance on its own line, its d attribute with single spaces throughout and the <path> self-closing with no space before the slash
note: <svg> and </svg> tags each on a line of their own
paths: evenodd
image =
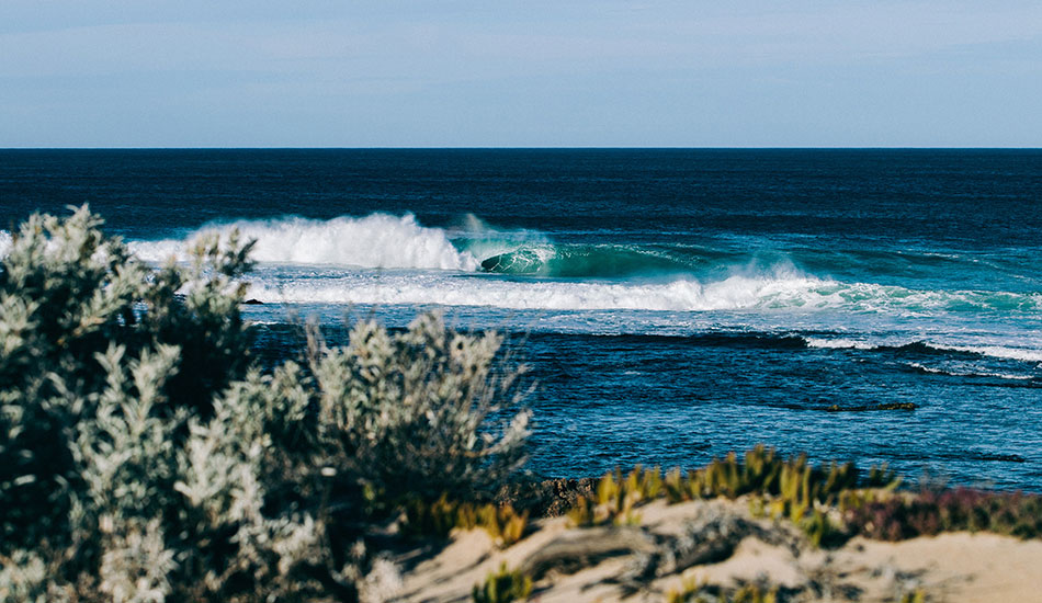
<svg viewBox="0 0 1042 603">
<path fill-rule="evenodd" d="M 0 260 L 0 601 L 351 600 L 365 509 L 523 462 L 496 335 L 364 321 L 264 374 L 249 244 L 152 271 L 100 225 L 33 216 Z"/>
</svg>

